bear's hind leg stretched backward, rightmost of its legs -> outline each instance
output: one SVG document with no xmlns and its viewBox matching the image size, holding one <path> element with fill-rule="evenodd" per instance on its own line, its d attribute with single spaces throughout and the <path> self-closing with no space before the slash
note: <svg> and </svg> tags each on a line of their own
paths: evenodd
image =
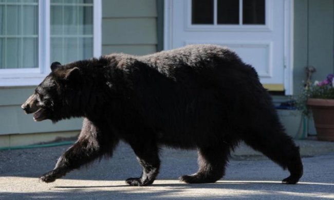
<svg viewBox="0 0 334 200">
<path fill-rule="evenodd" d="M 276 127 L 276 128 L 275 128 Z M 249 134 L 245 142 L 255 150 L 261 151 L 283 169 L 288 169 L 290 176 L 283 179 L 284 184 L 296 184 L 303 175 L 303 164 L 297 147 L 281 126 L 262 127 L 255 134 Z"/>
</svg>

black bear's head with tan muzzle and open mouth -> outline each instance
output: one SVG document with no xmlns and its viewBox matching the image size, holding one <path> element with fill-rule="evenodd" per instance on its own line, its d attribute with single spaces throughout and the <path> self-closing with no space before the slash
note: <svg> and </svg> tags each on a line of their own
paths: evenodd
<svg viewBox="0 0 334 200">
<path fill-rule="evenodd" d="M 80 74 L 80 69 L 73 66 L 62 66 L 58 62 L 51 64 L 51 73 L 38 85 L 34 93 L 22 104 L 21 108 L 26 114 L 34 113 L 36 122 L 51 119 L 57 122 L 63 118 L 69 118 L 66 110 L 70 108 L 66 102 L 68 89 Z M 73 91 L 72 91 L 73 92 Z M 68 116 L 67 116 L 68 115 Z"/>
</svg>

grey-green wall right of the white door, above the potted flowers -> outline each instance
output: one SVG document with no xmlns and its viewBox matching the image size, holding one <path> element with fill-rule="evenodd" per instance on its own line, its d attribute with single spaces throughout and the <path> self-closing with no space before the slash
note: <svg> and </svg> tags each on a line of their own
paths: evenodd
<svg viewBox="0 0 334 200">
<path fill-rule="evenodd" d="M 333 0 L 294 0 L 294 94 L 301 91 L 306 66 L 317 69 L 313 81 L 333 73 L 333 8 Z"/>
</svg>

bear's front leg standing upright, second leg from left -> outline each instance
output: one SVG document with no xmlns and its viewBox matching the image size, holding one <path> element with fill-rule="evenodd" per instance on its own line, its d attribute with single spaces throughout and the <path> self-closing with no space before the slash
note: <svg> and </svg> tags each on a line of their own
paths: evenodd
<svg viewBox="0 0 334 200">
<path fill-rule="evenodd" d="M 154 182 L 155 177 L 159 173 L 160 159 L 157 144 L 148 139 L 138 139 L 136 142 L 130 143 L 137 155 L 139 164 L 143 168 L 141 176 L 138 178 L 126 179 L 126 184 L 130 186 L 146 186 Z"/>
</svg>

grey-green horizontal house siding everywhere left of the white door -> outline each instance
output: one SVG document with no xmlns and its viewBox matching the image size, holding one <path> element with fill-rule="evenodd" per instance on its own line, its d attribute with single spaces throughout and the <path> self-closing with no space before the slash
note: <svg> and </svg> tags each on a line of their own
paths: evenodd
<svg viewBox="0 0 334 200">
<path fill-rule="evenodd" d="M 102 8 L 102 54 L 157 51 L 156 0 L 103 0 Z M 82 118 L 53 125 L 50 121 L 35 123 L 32 115 L 24 114 L 21 104 L 34 88 L 0 88 L 0 147 L 52 141 L 79 133 Z"/>
</svg>

